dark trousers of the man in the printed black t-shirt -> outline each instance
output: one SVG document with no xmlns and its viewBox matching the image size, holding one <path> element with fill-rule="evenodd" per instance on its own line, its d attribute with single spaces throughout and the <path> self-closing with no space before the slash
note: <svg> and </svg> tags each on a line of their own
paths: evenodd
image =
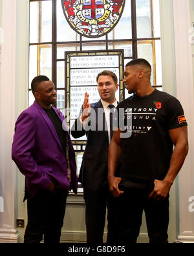
<svg viewBox="0 0 194 256">
<path fill-rule="evenodd" d="M 148 199 L 151 190 L 148 188 L 125 188 L 118 200 L 120 209 L 119 240 L 121 244 L 136 243 L 142 225 L 142 213 L 145 211 L 147 233 L 150 243 L 167 243 L 169 224 L 169 197 L 163 201 Z"/>
</svg>

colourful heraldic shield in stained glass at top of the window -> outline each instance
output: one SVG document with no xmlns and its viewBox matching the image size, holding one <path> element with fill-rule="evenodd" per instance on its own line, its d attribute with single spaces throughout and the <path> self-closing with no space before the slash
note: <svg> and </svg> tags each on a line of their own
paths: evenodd
<svg viewBox="0 0 194 256">
<path fill-rule="evenodd" d="M 61 0 L 70 27 L 96 38 L 110 32 L 122 16 L 125 0 Z"/>
</svg>

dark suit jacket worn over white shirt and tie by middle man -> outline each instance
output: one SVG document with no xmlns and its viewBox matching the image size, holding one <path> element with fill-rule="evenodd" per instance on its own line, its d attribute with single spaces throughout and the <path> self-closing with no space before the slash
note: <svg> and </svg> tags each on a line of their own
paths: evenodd
<svg viewBox="0 0 194 256">
<path fill-rule="evenodd" d="M 96 113 L 97 128 L 99 122 L 103 122 L 104 118 L 102 118 L 102 115 L 100 116 L 100 121 L 98 118 L 98 109 L 102 108 L 103 110 L 101 101 L 92 103 L 91 108 L 94 109 Z M 80 116 L 81 113 L 82 110 Z M 80 116 L 76 119 L 74 125 L 72 125 L 71 131 L 74 138 L 80 138 L 85 134 L 87 136 L 87 144 L 83 153 L 79 181 L 83 188 L 96 191 L 107 183 L 107 158 L 109 152 L 108 132 L 105 131 L 106 123 L 103 125 L 103 131 L 98 131 L 97 129 L 96 131 L 85 131 L 84 129 L 78 131 L 78 127 L 81 127 Z M 91 122 L 91 116 L 89 116 L 88 122 Z M 100 125 L 102 125 L 102 123 Z"/>
</svg>

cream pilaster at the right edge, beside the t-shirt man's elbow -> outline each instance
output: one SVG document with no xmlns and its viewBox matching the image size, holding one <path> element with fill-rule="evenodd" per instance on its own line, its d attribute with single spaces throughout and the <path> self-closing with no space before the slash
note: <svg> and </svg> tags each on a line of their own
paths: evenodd
<svg viewBox="0 0 194 256">
<path fill-rule="evenodd" d="M 182 242 L 194 242 L 194 214 L 188 209 L 189 198 L 194 196 L 194 136 L 192 131 L 194 125 L 194 92 L 192 50 L 189 42 L 189 29 L 191 27 L 189 3 L 189 0 L 173 0 L 177 98 L 180 99 L 184 107 L 188 121 L 189 138 L 189 153 L 178 176 L 178 239 Z"/>
</svg>

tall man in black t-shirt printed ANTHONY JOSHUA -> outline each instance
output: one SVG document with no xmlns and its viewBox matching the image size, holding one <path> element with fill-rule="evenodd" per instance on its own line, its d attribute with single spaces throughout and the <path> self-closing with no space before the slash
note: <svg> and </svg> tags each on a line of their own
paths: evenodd
<svg viewBox="0 0 194 256">
<path fill-rule="evenodd" d="M 124 76 L 125 86 L 133 96 L 117 107 L 118 129 L 108 159 L 109 187 L 118 198 L 118 242 L 136 242 L 144 210 L 149 242 L 164 243 L 169 190 L 188 153 L 186 118 L 175 97 L 151 86 L 147 60 L 129 62 Z M 115 177 L 119 160 L 120 177 Z"/>
</svg>

